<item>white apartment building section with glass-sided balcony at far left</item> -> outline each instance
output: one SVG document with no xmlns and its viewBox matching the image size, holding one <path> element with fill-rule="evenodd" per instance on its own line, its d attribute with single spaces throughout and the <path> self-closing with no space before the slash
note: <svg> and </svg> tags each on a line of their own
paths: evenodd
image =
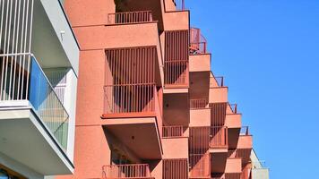
<svg viewBox="0 0 319 179">
<path fill-rule="evenodd" d="M 80 47 L 58 0 L 0 0 L 0 178 L 72 175 Z"/>
</svg>

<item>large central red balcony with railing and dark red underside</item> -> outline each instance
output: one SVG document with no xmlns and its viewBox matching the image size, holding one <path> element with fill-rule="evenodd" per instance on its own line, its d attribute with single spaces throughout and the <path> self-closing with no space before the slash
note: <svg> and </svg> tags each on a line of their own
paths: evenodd
<svg viewBox="0 0 319 179">
<path fill-rule="evenodd" d="M 139 158 L 160 159 L 162 116 L 156 86 L 107 85 L 104 92 L 104 129 L 115 135 Z"/>
</svg>

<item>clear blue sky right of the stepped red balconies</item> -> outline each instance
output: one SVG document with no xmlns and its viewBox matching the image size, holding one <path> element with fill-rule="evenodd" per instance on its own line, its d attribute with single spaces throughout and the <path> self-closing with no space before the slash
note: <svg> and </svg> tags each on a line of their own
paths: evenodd
<svg viewBox="0 0 319 179">
<path fill-rule="evenodd" d="M 319 0 L 185 0 L 271 179 L 319 178 Z"/>
</svg>

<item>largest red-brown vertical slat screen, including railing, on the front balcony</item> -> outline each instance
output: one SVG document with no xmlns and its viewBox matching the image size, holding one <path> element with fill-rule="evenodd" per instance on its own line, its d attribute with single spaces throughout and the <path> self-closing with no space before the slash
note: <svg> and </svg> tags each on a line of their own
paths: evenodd
<svg viewBox="0 0 319 179">
<path fill-rule="evenodd" d="M 106 50 L 104 114 L 155 111 L 156 47 Z"/>
</svg>

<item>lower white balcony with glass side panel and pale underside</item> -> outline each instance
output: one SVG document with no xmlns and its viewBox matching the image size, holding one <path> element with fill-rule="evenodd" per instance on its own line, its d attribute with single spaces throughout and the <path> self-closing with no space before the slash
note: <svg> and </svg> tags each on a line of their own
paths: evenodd
<svg viewBox="0 0 319 179">
<path fill-rule="evenodd" d="M 69 115 L 37 59 L 0 55 L 0 65 L 0 152 L 42 175 L 72 174 Z"/>
</svg>

